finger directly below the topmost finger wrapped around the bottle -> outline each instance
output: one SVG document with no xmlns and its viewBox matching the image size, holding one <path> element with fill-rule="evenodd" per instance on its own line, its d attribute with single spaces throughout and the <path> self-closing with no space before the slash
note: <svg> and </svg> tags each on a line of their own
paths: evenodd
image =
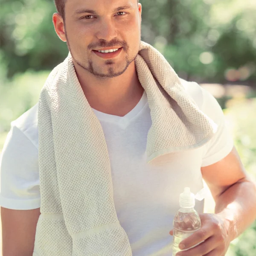
<svg viewBox="0 0 256 256">
<path fill-rule="evenodd" d="M 206 241 L 197 246 L 177 253 L 177 256 L 201 256 L 207 255 L 207 253 L 211 252 L 218 246 L 217 239 L 214 236 L 211 236 Z M 216 255 L 217 256 L 217 255 Z"/>
</svg>

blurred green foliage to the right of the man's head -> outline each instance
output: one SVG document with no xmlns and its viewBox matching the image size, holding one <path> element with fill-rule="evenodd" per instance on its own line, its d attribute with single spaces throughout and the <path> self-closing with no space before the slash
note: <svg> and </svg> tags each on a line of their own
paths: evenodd
<svg viewBox="0 0 256 256">
<path fill-rule="evenodd" d="M 249 0 L 140 2 L 144 7 L 143 38 L 163 53 L 181 77 L 222 83 L 226 81 L 226 72 L 233 68 L 242 74 L 229 78 L 230 81 L 249 78 L 255 81 L 256 3 Z"/>
</svg>

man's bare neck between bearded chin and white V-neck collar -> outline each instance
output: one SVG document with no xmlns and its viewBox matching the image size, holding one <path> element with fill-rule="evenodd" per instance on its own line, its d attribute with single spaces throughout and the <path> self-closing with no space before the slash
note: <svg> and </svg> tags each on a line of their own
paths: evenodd
<svg viewBox="0 0 256 256">
<path fill-rule="evenodd" d="M 74 63 L 78 80 L 90 106 L 97 111 L 125 116 L 140 101 L 143 87 L 134 61 L 125 72 L 113 78 L 99 78 Z"/>
</svg>

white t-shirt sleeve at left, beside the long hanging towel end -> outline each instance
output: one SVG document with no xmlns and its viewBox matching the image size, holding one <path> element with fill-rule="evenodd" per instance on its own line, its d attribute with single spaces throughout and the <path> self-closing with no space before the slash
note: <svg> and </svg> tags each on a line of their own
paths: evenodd
<svg viewBox="0 0 256 256">
<path fill-rule="evenodd" d="M 38 149 L 12 125 L 0 159 L 0 205 L 28 210 L 40 204 Z"/>
</svg>

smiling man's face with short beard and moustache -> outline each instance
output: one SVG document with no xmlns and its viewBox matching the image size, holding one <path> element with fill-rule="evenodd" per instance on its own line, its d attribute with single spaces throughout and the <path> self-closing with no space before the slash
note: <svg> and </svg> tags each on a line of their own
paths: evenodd
<svg viewBox="0 0 256 256">
<path fill-rule="evenodd" d="M 141 5 L 137 0 L 67 0 L 64 28 L 80 67 L 98 77 L 119 76 L 139 51 Z M 107 49 L 111 52 L 99 52 Z"/>
</svg>

